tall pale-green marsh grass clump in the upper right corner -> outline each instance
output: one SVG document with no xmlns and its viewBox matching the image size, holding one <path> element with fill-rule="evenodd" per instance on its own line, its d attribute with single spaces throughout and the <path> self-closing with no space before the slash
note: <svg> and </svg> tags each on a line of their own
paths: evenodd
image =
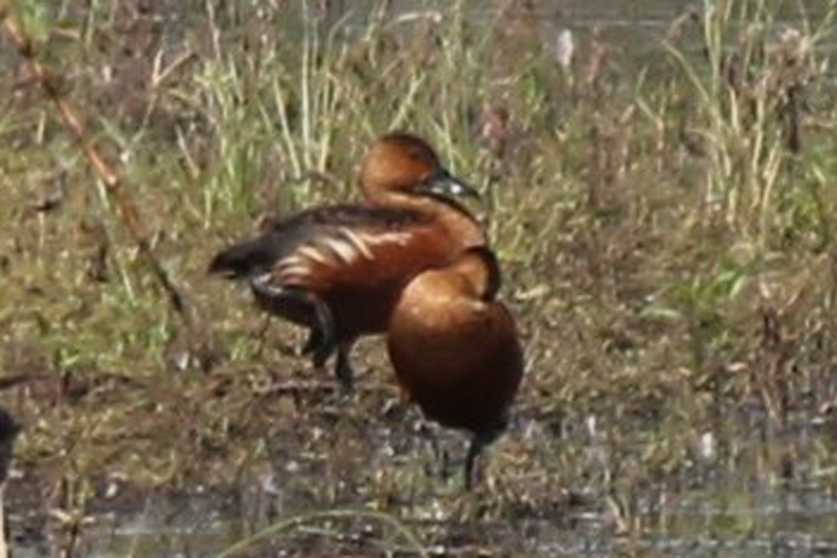
<svg viewBox="0 0 837 558">
<path fill-rule="evenodd" d="M 827 12 L 816 28 L 799 29 L 778 23 L 777 15 L 766 2 L 707 4 L 693 16 L 702 62 L 665 41 L 694 88 L 691 109 L 706 123 L 684 129 L 711 161 L 706 206 L 762 243 L 790 201 L 783 192 L 798 180 L 810 100 L 827 86 L 828 62 L 816 47 L 834 17 Z"/>
</svg>

